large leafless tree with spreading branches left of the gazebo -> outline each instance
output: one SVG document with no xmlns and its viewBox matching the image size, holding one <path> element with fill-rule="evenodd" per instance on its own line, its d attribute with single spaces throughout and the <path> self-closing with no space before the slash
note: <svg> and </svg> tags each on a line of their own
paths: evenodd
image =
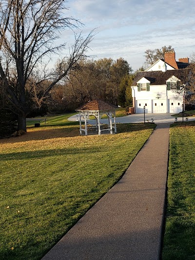
<svg viewBox="0 0 195 260">
<path fill-rule="evenodd" d="M 26 116 L 40 106 L 51 89 L 86 57 L 92 31 L 86 38 L 75 35 L 68 57 L 48 70 L 51 55 L 66 43 L 55 45 L 63 30 L 81 23 L 65 17 L 66 0 L 1 0 L 0 87 L 4 105 L 18 115 L 19 129 L 26 131 Z M 44 84 L 44 82 L 47 84 Z M 48 82 L 50 82 L 48 84 Z"/>
</svg>

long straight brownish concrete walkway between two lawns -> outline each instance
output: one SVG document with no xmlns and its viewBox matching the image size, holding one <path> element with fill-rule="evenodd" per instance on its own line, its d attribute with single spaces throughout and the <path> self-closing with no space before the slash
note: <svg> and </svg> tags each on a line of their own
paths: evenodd
<svg viewBox="0 0 195 260">
<path fill-rule="evenodd" d="M 121 180 L 42 260 L 158 260 L 170 123 L 158 124 Z"/>
</svg>

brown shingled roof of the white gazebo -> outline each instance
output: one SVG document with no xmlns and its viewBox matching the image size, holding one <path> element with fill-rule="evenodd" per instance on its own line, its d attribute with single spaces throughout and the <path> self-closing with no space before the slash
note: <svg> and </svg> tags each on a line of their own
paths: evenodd
<svg viewBox="0 0 195 260">
<path fill-rule="evenodd" d="M 114 110 L 114 109 L 117 109 L 117 106 L 108 104 L 102 100 L 92 100 L 82 105 L 78 109 L 76 109 L 76 111 L 89 111 L 89 110 L 100 111 L 100 110 Z"/>
</svg>

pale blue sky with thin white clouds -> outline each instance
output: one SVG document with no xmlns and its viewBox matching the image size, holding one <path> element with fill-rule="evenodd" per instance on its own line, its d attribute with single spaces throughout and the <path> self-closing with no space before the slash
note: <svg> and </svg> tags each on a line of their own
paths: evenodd
<svg viewBox="0 0 195 260">
<path fill-rule="evenodd" d="M 66 15 L 84 24 L 83 35 L 96 28 L 88 52 L 95 60 L 122 57 L 135 71 L 147 49 L 172 45 L 176 60 L 195 52 L 194 0 L 69 0 L 66 6 Z"/>
</svg>

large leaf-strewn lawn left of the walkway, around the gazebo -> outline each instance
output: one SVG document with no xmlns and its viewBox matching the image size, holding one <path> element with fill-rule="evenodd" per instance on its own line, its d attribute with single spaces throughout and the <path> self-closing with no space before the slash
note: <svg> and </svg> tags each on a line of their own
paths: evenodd
<svg viewBox="0 0 195 260">
<path fill-rule="evenodd" d="M 0 259 L 38 260 L 120 179 L 154 124 L 79 136 L 68 116 L 0 140 Z M 32 123 L 32 122 L 31 122 Z"/>
</svg>

